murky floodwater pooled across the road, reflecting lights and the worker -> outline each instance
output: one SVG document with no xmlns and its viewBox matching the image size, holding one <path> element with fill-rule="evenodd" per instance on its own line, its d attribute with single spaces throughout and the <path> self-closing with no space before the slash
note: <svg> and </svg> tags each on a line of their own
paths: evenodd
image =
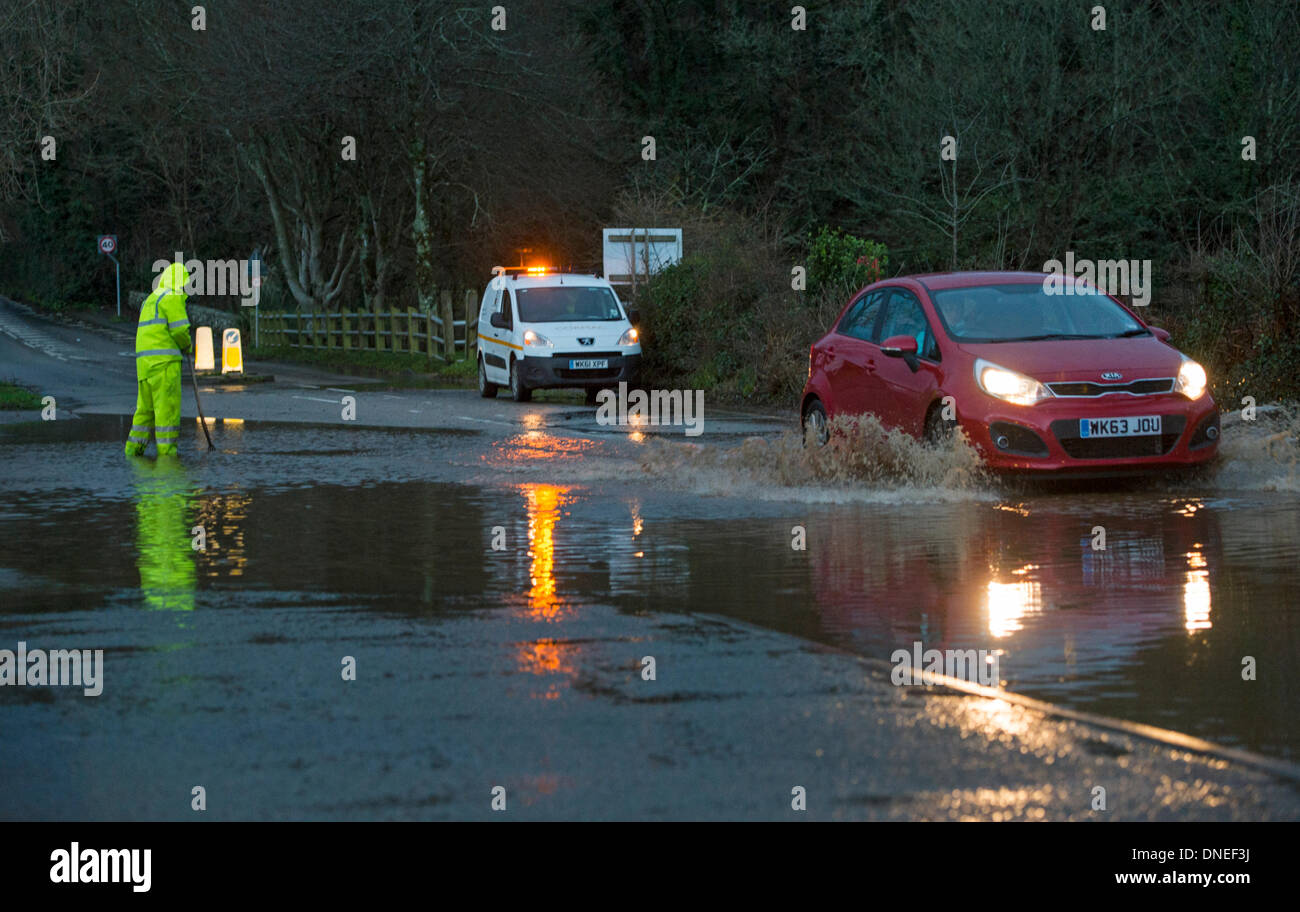
<svg viewBox="0 0 1300 912">
<path fill-rule="evenodd" d="M 504 613 L 541 625 L 517 661 L 554 699 L 585 613 L 723 616 L 884 661 L 988 650 L 1010 690 L 1300 756 L 1294 455 L 1226 446 L 1219 475 L 1153 487 L 792 486 L 755 442 L 225 422 L 174 464 L 124 460 L 122 421 L 0 427 L 0 622 Z"/>
</svg>

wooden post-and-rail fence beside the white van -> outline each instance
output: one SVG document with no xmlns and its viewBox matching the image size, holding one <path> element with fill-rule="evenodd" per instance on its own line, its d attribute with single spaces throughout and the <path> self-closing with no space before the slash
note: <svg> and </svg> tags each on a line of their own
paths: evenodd
<svg viewBox="0 0 1300 912">
<path fill-rule="evenodd" d="M 467 291 L 463 316 L 456 318 L 452 295 L 443 291 L 438 313 L 415 308 L 374 313 L 302 310 L 260 314 L 261 344 L 289 348 L 337 348 L 339 351 L 395 352 L 424 355 L 429 361 L 456 361 L 474 357 L 478 333 L 478 295 Z"/>
</svg>

